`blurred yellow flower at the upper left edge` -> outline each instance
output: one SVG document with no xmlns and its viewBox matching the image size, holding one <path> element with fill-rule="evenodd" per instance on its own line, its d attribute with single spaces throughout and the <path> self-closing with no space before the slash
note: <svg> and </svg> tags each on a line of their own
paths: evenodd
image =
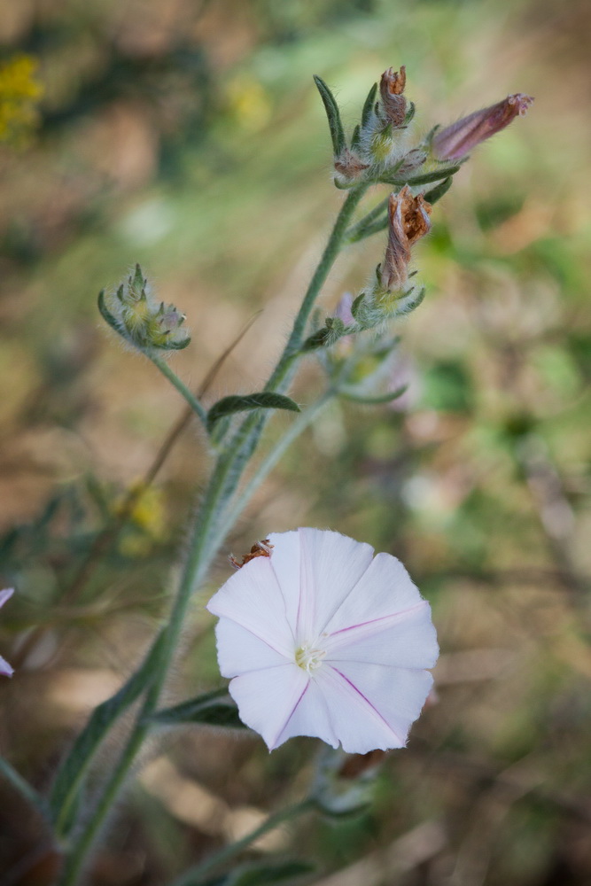
<svg viewBox="0 0 591 886">
<path fill-rule="evenodd" d="M 0 64 L 0 142 L 23 147 L 39 123 L 43 85 L 36 58 L 18 55 Z"/>
</svg>

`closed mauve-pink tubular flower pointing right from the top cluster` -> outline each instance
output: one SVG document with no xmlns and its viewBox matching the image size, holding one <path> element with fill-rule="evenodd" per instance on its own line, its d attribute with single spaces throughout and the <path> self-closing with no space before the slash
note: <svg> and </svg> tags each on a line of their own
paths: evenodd
<svg viewBox="0 0 591 886">
<path fill-rule="evenodd" d="M 432 139 L 432 153 L 438 160 L 458 160 L 473 148 L 494 136 L 516 117 L 524 117 L 533 103 L 531 96 L 517 92 L 496 105 L 470 113 L 445 129 L 438 129 Z"/>
</svg>

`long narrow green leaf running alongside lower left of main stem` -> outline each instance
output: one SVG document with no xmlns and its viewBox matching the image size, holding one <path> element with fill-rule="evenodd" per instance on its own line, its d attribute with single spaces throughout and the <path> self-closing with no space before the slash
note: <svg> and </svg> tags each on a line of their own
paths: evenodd
<svg viewBox="0 0 591 886">
<path fill-rule="evenodd" d="M 49 801 L 58 835 L 66 834 L 72 804 L 76 802 L 78 791 L 98 746 L 113 727 L 115 720 L 119 719 L 150 685 L 165 637 L 166 633 L 162 631 L 140 669 L 119 692 L 92 711 L 86 727 L 78 735 L 72 749 L 59 767 Z"/>
</svg>

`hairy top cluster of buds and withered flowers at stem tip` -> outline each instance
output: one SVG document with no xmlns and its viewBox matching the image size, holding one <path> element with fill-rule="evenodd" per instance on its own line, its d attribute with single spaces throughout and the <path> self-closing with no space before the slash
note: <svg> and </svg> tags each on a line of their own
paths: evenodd
<svg viewBox="0 0 591 886">
<path fill-rule="evenodd" d="M 406 315 L 424 298 L 424 289 L 409 284 L 411 250 L 431 230 L 432 204 L 451 185 L 458 161 L 486 138 L 494 136 L 517 116 L 523 116 L 533 98 L 522 93 L 496 105 L 471 113 L 446 127 L 436 127 L 414 147 L 404 144 L 403 130 L 415 115 L 415 105 L 404 95 L 406 68 L 392 67 L 369 90 L 361 123 L 346 143 L 337 102 L 326 84 L 315 77 L 330 124 L 335 154 L 335 183 L 351 188 L 358 183 L 387 183 L 394 187 L 387 206 L 369 213 L 351 231 L 355 242 L 377 230 L 387 229 L 384 260 L 372 282 L 350 303 L 346 311 L 327 317 L 322 329 L 307 338 L 304 350 L 333 345 L 339 338 L 364 330 L 385 329 L 385 322 Z M 454 166 L 450 166 L 454 163 Z M 421 168 L 423 167 L 423 168 Z M 435 185 L 424 190 L 424 185 Z"/>
</svg>

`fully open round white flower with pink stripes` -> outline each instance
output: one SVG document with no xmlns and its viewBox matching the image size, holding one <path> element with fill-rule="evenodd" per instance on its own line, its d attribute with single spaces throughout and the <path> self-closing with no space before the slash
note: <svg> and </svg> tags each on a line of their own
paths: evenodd
<svg viewBox="0 0 591 886">
<path fill-rule="evenodd" d="M 338 532 L 270 535 L 210 600 L 241 719 L 269 750 L 294 735 L 349 753 L 404 747 L 438 656 L 429 604 L 396 557 Z"/>
</svg>

